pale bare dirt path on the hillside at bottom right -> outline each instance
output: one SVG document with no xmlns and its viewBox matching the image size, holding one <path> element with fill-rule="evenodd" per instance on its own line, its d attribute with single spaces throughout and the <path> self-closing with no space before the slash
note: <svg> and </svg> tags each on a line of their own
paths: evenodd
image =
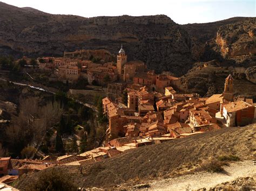
<svg viewBox="0 0 256 191">
<path fill-rule="evenodd" d="M 251 160 L 233 162 L 224 169 L 225 173 L 201 172 L 178 178 L 155 180 L 150 183 L 149 190 L 195 190 L 200 188 L 208 190 L 215 185 L 232 181 L 238 177 L 256 176 L 256 165 L 253 165 Z"/>
</svg>

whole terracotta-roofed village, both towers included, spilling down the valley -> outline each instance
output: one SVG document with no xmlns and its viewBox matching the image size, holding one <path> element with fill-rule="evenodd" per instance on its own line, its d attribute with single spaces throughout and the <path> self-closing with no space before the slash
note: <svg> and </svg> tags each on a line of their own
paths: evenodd
<svg viewBox="0 0 256 191">
<path fill-rule="evenodd" d="M 223 82 L 222 94 L 200 97 L 180 93 L 178 77 L 156 74 L 142 61 L 127 62 L 123 47 L 116 63 L 111 56 L 107 56 L 109 62 L 94 63 L 67 55 L 38 58 L 38 68 L 53 71 L 63 82 L 84 78 L 90 85 L 105 86 L 107 97 L 102 98 L 102 110 L 108 123 L 104 146 L 80 154 L 46 155 L 41 160 L 0 158 L 0 174 L 5 175 L 2 182 L 55 165 L 91 164 L 132 148 L 255 122 L 256 104 L 251 98 L 234 96 L 232 75 Z"/>
</svg>

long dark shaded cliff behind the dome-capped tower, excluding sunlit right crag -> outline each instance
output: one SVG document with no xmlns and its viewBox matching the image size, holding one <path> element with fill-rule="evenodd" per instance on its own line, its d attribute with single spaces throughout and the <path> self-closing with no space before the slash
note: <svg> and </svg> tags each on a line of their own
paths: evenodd
<svg viewBox="0 0 256 191">
<path fill-rule="evenodd" d="M 182 75 L 193 62 L 192 39 L 164 15 L 83 18 L 4 3 L 0 12 L 0 48 L 8 53 L 62 56 L 64 51 L 105 49 L 116 55 L 123 44 L 128 60 L 142 60 L 156 72 Z"/>
</svg>

